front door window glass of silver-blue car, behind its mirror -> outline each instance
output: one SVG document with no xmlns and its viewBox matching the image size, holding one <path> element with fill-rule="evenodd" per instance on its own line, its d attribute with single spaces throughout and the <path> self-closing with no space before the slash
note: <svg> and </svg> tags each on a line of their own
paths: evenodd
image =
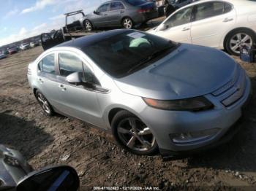
<svg viewBox="0 0 256 191">
<path fill-rule="evenodd" d="M 75 55 L 59 53 L 59 70 L 62 77 L 74 72 L 83 72 L 83 62 Z"/>
</svg>

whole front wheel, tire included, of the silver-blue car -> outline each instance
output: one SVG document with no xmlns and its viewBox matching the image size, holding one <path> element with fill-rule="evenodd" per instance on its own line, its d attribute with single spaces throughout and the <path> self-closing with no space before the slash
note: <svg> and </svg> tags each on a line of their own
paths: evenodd
<svg viewBox="0 0 256 191">
<path fill-rule="evenodd" d="M 129 152 L 136 155 L 154 155 L 158 151 L 157 141 L 151 130 L 130 112 L 118 112 L 113 117 L 111 128 L 117 143 Z"/>
</svg>

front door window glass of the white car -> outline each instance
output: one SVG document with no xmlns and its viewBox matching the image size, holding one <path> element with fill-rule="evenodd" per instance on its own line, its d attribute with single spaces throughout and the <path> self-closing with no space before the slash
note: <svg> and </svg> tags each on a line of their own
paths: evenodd
<svg viewBox="0 0 256 191">
<path fill-rule="evenodd" d="M 181 25 L 184 25 L 186 23 L 189 23 L 191 13 L 192 13 L 192 9 L 193 9 L 193 7 L 189 7 L 189 8 L 186 8 L 186 9 L 181 9 L 180 11 L 176 12 L 176 14 L 171 16 L 169 18 L 169 20 L 167 20 L 165 22 L 165 25 L 169 26 L 169 27 L 174 27 L 174 26 L 181 26 Z"/>
</svg>

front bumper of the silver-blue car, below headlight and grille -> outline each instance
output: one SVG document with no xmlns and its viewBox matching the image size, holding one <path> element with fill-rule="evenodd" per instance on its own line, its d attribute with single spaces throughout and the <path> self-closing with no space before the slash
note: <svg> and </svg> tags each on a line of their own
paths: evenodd
<svg viewBox="0 0 256 191">
<path fill-rule="evenodd" d="M 251 94 L 251 82 L 246 77 L 244 95 L 232 106 L 226 107 L 213 95 L 206 95 L 206 98 L 214 104 L 214 109 L 203 112 L 177 112 L 162 111 L 148 106 L 143 110 L 142 116 L 157 139 L 159 151 L 164 159 L 191 155 L 232 139 L 240 127 L 237 124 L 241 120 L 242 110 Z M 170 136 L 213 129 L 217 129 L 217 133 L 208 136 L 207 139 L 187 144 L 176 144 Z"/>
</svg>

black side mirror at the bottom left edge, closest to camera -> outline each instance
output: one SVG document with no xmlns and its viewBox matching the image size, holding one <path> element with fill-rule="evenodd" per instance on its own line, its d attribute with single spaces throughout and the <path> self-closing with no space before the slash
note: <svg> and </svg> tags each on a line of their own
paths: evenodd
<svg viewBox="0 0 256 191">
<path fill-rule="evenodd" d="M 79 177 L 74 168 L 61 165 L 32 172 L 18 182 L 17 191 L 79 189 Z"/>
</svg>

